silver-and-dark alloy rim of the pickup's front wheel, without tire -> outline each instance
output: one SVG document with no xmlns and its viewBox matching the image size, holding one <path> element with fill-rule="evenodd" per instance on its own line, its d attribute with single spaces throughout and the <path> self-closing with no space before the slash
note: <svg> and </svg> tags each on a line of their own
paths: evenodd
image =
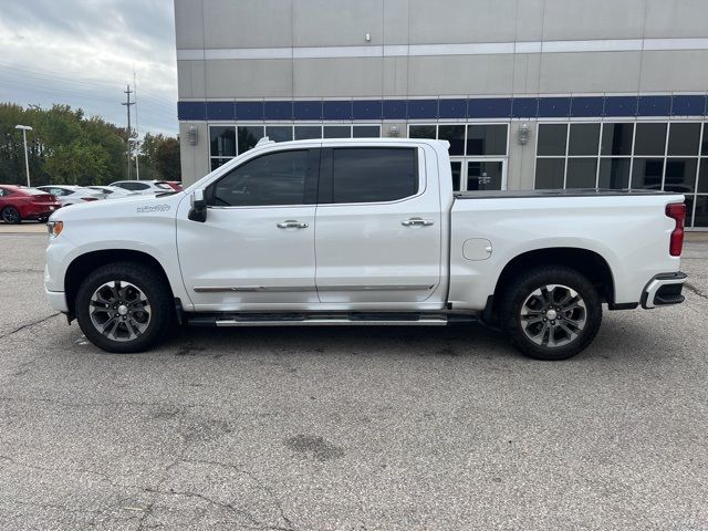
<svg viewBox="0 0 708 531">
<path fill-rule="evenodd" d="M 91 323 L 108 340 L 133 341 L 150 324 L 150 304 L 135 284 L 114 280 L 91 296 Z"/>
</svg>

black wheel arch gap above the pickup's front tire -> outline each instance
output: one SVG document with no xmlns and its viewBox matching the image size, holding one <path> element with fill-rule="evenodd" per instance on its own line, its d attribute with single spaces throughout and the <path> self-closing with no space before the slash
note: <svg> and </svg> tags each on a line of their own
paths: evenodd
<svg viewBox="0 0 708 531">
<path fill-rule="evenodd" d="M 85 254 L 76 257 L 66 268 L 66 274 L 64 275 L 64 293 L 66 294 L 66 305 L 69 308 L 69 314 L 74 316 L 74 306 L 76 301 L 76 293 L 83 280 L 97 268 L 108 266 L 111 263 L 125 263 L 133 262 L 147 266 L 153 269 L 164 281 L 165 285 L 173 293 L 169 278 L 165 272 L 162 263 L 155 257 L 132 249 L 108 249 L 100 251 L 91 251 Z"/>
</svg>

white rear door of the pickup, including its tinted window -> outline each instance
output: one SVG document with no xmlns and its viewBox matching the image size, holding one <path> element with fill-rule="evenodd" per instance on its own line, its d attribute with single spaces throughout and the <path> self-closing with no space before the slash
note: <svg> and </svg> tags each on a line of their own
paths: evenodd
<svg viewBox="0 0 708 531">
<path fill-rule="evenodd" d="M 440 284 L 442 219 L 426 150 L 405 143 L 334 146 L 322 152 L 320 176 L 320 301 L 343 310 L 440 308 L 442 298 L 433 295 Z"/>
</svg>

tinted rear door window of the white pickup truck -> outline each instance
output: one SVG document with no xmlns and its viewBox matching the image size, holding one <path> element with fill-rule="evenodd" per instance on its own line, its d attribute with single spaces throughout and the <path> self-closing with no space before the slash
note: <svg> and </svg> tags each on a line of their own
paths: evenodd
<svg viewBox="0 0 708 531">
<path fill-rule="evenodd" d="M 333 202 L 382 202 L 415 196 L 416 159 L 415 148 L 334 148 Z"/>
</svg>

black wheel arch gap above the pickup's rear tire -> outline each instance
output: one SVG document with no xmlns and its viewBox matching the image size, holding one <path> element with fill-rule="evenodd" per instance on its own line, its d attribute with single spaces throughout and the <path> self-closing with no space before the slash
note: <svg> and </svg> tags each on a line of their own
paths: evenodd
<svg viewBox="0 0 708 531">
<path fill-rule="evenodd" d="M 497 280 L 494 300 L 524 271 L 544 266 L 562 266 L 577 271 L 595 287 L 603 302 L 611 305 L 614 303 L 614 275 L 607 261 L 595 251 L 573 247 L 535 249 L 514 257 L 504 266 Z"/>
</svg>

